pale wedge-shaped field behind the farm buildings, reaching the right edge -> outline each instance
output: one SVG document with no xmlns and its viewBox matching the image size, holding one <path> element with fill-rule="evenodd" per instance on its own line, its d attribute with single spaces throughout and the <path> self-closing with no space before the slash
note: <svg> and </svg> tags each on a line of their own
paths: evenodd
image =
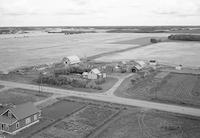
<svg viewBox="0 0 200 138">
<path fill-rule="evenodd" d="M 199 51 L 199 42 L 163 42 L 149 45 L 148 47 L 106 55 L 96 60 L 120 61 L 130 59 L 155 59 L 166 64 L 182 64 L 183 66 L 199 67 Z"/>
</svg>

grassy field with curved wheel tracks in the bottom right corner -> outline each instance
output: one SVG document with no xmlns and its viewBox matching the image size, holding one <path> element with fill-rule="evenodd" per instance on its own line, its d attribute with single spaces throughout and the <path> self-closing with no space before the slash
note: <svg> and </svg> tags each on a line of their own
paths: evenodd
<svg viewBox="0 0 200 138">
<path fill-rule="evenodd" d="M 95 138 L 198 138 L 200 120 L 175 114 L 133 110 L 124 112 Z"/>
</svg>

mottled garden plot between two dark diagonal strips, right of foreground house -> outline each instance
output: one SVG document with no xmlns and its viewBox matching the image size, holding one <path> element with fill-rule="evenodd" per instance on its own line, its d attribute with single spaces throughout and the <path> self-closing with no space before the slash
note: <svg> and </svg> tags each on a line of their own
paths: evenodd
<svg viewBox="0 0 200 138">
<path fill-rule="evenodd" d="M 38 133 L 34 138 L 82 138 L 91 134 L 101 124 L 111 118 L 117 110 L 110 107 L 88 105 L 58 122 L 54 126 Z"/>
</svg>

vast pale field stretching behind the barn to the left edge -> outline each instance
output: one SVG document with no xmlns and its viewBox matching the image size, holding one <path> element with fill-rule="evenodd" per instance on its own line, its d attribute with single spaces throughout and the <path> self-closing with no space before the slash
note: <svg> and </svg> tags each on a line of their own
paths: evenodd
<svg viewBox="0 0 200 138">
<path fill-rule="evenodd" d="M 168 36 L 168 34 L 93 33 L 77 35 L 42 35 L 9 38 L 0 41 L 0 71 L 19 66 L 52 63 L 68 55 L 92 56 L 136 45 L 110 44 L 134 38 Z"/>
</svg>

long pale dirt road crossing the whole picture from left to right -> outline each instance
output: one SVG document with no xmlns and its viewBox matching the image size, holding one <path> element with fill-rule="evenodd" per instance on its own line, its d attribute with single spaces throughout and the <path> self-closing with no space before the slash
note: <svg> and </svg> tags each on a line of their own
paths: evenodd
<svg viewBox="0 0 200 138">
<path fill-rule="evenodd" d="M 39 89 L 39 87 L 36 85 L 16 83 L 16 82 L 0 81 L 0 84 L 5 85 L 5 86 L 12 86 L 16 88 L 30 89 L 30 90 Z M 113 88 L 112 91 L 114 91 L 117 88 L 115 85 L 114 87 L 115 88 Z M 42 89 L 43 89 L 43 92 L 61 94 L 63 96 L 76 96 L 76 97 L 81 97 L 81 98 L 86 98 L 86 99 L 97 100 L 97 101 L 150 108 L 150 109 L 156 109 L 156 110 L 161 110 L 161 111 L 200 117 L 200 109 L 198 108 L 155 103 L 155 102 L 136 100 L 136 99 L 127 99 L 127 98 L 117 97 L 113 95 L 112 92 L 109 92 L 107 94 L 106 93 L 99 94 L 99 93 L 77 92 L 77 91 L 64 90 L 64 89 L 51 88 L 51 87 L 43 87 Z"/>
</svg>

